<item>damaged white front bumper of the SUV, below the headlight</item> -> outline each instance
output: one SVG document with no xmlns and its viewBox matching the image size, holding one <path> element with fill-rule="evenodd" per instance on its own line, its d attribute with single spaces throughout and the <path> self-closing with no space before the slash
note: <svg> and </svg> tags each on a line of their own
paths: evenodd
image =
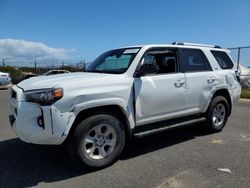
<svg viewBox="0 0 250 188">
<path fill-rule="evenodd" d="M 73 116 L 66 112 L 61 113 L 55 106 L 39 106 L 25 102 L 23 92 L 13 86 L 10 99 L 11 113 L 9 121 L 16 135 L 27 143 L 59 145 L 67 137 L 64 131 Z M 38 118 L 42 118 L 43 126 Z"/>
</svg>

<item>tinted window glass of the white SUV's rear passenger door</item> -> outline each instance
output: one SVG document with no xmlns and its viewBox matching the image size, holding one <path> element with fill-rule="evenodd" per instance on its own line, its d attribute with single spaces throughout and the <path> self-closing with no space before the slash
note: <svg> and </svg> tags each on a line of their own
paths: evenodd
<svg viewBox="0 0 250 188">
<path fill-rule="evenodd" d="M 207 58 L 204 53 L 198 49 L 181 50 L 181 71 L 182 72 L 200 72 L 210 71 Z"/>
</svg>

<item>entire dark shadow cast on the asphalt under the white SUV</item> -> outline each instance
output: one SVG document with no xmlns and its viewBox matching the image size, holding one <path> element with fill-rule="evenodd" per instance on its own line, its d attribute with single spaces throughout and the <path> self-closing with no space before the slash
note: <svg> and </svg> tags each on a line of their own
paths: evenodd
<svg viewBox="0 0 250 188">
<path fill-rule="evenodd" d="M 120 160 L 129 160 L 205 134 L 207 132 L 200 126 L 192 126 L 132 140 Z M 26 144 L 17 138 L 0 142 L 0 187 L 31 187 L 40 182 L 56 182 L 90 172 L 93 171 L 77 168 L 63 147 Z"/>
</svg>

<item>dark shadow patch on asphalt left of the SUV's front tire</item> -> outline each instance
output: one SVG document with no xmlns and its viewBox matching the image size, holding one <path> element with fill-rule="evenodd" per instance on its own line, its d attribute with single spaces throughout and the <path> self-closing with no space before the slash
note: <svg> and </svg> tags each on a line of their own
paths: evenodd
<svg viewBox="0 0 250 188">
<path fill-rule="evenodd" d="M 26 144 L 17 138 L 0 142 L 0 187 L 31 187 L 89 172 L 78 169 L 60 146 Z"/>
</svg>

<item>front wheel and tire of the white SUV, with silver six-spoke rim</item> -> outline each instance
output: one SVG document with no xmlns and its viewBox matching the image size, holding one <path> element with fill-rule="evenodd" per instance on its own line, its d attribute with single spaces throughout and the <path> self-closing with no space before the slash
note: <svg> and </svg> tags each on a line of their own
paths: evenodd
<svg viewBox="0 0 250 188">
<path fill-rule="evenodd" d="M 122 122 L 113 114 L 101 113 L 78 124 L 67 151 L 81 167 L 103 168 L 118 159 L 124 144 Z"/>
</svg>

